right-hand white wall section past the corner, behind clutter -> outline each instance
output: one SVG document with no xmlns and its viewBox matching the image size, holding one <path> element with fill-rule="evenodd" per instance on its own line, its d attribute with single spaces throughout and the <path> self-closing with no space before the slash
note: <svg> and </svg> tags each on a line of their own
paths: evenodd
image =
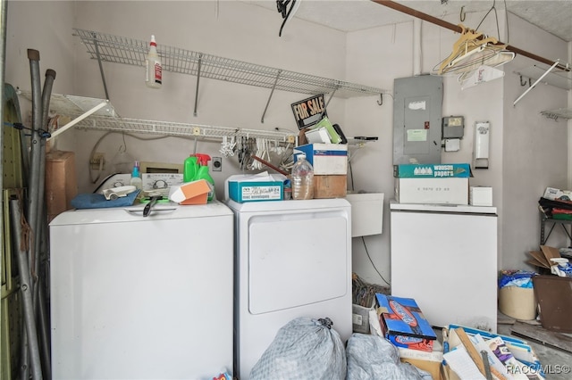
<svg viewBox="0 0 572 380">
<path fill-rule="evenodd" d="M 558 37 L 543 33 L 526 21 L 510 17 L 514 30 L 511 43 L 526 46 L 526 50 L 551 60 L 567 62 L 567 44 Z M 568 91 L 539 84 L 516 105 L 518 96 L 528 85 L 520 86 L 520 78 L 513 71 L 530 67 L 532 62 L 518 57 L 507 64 L 504 80 L 504 141 L 502 151 L 502 264 L 504 268 L 523 268 L 525 253 L 537 250 L 540 235 L 538 200 L 546 186 L 568 188 L 568 128 L 566 120 L 547 119 L 539 112 L 565 108 Z M 554 228 L 547 244 L 567 246 L 566 235 Z"/>
</svg>

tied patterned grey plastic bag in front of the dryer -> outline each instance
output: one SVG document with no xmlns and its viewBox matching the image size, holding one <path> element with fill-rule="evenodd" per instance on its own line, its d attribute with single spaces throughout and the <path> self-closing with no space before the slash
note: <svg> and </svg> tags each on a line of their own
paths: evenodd
<svg viewBox="0 0 572 380">
<path fill-rule="evenodd" d="M 252 380 L 343 380 L 346 351 L 330 318 L 292 319 L 250 372 Z"/>
</svg>

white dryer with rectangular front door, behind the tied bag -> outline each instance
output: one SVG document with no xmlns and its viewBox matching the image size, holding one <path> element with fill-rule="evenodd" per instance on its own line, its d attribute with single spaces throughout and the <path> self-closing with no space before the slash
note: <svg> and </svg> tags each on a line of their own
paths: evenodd
<svg viewBox="0 0 572 380">
<path fill-rule="evenodd" d="M 248 379 L 280 327 L 351 322 L 351 205 L 345 199 L 227 205 L 235 213 L 234 375 Z"/>
</svg>

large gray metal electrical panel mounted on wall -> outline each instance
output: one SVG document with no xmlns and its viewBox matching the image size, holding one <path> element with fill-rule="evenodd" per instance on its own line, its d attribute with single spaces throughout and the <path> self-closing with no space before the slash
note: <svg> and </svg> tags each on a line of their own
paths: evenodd
<svg viewBox="0 0 572 380">
<path fill-rule="evenodd" d="M 397 78 L 393 88 L 393 165 L 441 163 L 442 77 Z"/>
</svg>

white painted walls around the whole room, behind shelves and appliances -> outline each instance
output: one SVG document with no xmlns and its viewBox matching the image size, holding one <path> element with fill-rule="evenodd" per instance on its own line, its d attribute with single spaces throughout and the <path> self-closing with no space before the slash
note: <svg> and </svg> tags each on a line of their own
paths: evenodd
<svg viewBox="0 0 572 380">
<path fill-rule="evenodd" d="M 468 13 L 467 25 L 476 25 L 483 13 Z M 58 22 L 54 22 L 57 20 Z M 502 38 L 506 37 L 504 15 L 499 13 Z M 447 20 L 458 23 L 458 20 Z M 342 33 L 306 21 L 292 20 L 278 37 L 282 17 L 278 12 L 237 1 L 189 2 L 8 2 L 6 81 L 29 88 L 29 66 L 25 49 L 37 48 L 43 70 L 57 71 L 54 92 L 105 97 L 97 62 L 90 60 L 72 27 L 147 40 L 183 49 L 220 55 L 245 62 L 294 70 L 326 78 L 337 78 L 392 93 L 393 80 L 413 75 L 413 22 L 383 28 Z M 489 16 L 482 29 L 496 36 L 496 23 Z M 534 54 L 555 59 L 568 56 L 568 45 L 515 17 L 509 18 L 510 43 Z M 427 22 L 421 25 L 420 70 L 430 72 L 450 54 L 458 35 Z M 501 39 L 502 39 L 501 38 Z M 505 38 L 506 39 L 506 38 Z M 462 91 L 457 79 L 444 79 L 443 115 L 463 115 L 465 138 L 458 153 L 442 153 L 443 162 L 470 162 L 475 121 L 492 126 L 491 166 L 475 170 L 471 185 L 493 187 L 493 202 L 499 208 L 499 252 L 501 268 L 526 268 L 526 252 L 538 244 L 536 202 L 546 186 L 566 187 L 566 123 L 539 115 L 544 109 L 567 103 L 566 91 L 553 87 L 535 88 L 525 100 L 512 107 L 524 90 L 513 73 L 528 60 L 523 57 L 504 67 L 506 77 Z M 136 119 L 192 122 L 240 128 L 289 128 L 296 130 L 290 103 L 306 95 L 275 92 L 265 115 L 260 118 L 269 90 L 201 79 L 198 117 L 193 116 L 196 78 L 164 72 L 164 86 L 144 86 L 144 69 L 104 63 L 109 96 L 123 116 Z M 378 136 L 352 154 L 349 183 L 354 190 L 383 192 L 386 207 L 383 235 L 365 238 L 375 267 L 390 279 L 389 211 L 392 178 L 392 98 L 379 96 L 332 99 L 328 114 L 346 136 Z M 88 155 L 97 145 L 107 161 L 123 145 L 122 136 L 102 132 L 70 131 L 58 137 L 56 147 L 77 154 L 81 192 L 95 185 L 88 171 Z M 150 137 L 150 136 L 147 136 Z M 181 163 L 193 151 L 193 141 L 169 137 L 152 142 L 125 137 L 128 152 L 140 161 Z M 198 142 L 198 152 L 217 154 L 218 145 Z M 106 167 L 102 176 L 111 172 Z M 238 171 L 236 160 L 224 159 L 223 171 L 214 173 L 217 193 L 223 193 L 224 178 Z M 478 236 L 477 236 L 478 237 Z M 563 237 L 557 235 L 563 244 Z M 556 244 L 555 243 L 555 244 Z M 360 239 L 354 240 L 354 271 L 366 281 L 383 284 L 366 257 Z M 462 249 L 462 247 L 460 247 Z"/>
</svg>

